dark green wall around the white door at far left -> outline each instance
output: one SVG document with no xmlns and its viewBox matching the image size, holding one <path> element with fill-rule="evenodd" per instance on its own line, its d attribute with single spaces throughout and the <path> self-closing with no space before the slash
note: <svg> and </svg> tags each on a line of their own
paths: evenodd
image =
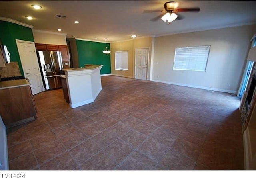
<svg viewBox="0 0 256 178">
<path fill-rule="evenodd" d="M 16 45 L 16 39 L 33 41 L 33 32 L 31 28 L 17 25 L 15 23 L 0 21 L 0 39 L 2 45 L 6 45 L 10 52 L 10 61 L 17 61 L 20 67 L 20 72 L 24 76 L 20 56 Z"/>
</svg>

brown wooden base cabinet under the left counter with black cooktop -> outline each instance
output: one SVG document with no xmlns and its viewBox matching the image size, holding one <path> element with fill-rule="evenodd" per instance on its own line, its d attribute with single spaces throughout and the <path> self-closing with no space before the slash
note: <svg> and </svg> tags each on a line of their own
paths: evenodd
<svg viewBox="0 0 256 178">
<path fill-rule="evenodd" d="M 0 98 L 0 115 L 7 128 L 32 121 L 37 117 L 29 85 L 1 89 Z"/>
</svg>

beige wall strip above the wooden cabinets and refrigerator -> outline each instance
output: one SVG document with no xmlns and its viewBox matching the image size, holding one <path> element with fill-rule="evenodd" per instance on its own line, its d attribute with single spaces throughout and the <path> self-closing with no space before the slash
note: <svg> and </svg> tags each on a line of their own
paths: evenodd
<svg viewBox="0 0 256 178">
<path fill-rule="evenodd" d="M 49 33 L 44 31 L 32 30 L 35 43 L 52 44 L 52 45 L 67 45 L 66 35 Z"/>
</svg>

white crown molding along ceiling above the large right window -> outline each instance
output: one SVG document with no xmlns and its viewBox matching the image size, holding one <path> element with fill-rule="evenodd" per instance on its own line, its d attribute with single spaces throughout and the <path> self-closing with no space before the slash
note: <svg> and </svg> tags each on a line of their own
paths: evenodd
<svg viewBox="0 0 256 178">
<path fill-rule="evenodd" d="M 240 24 L 232 24 L 232 25 L 222 25 L 222 26 L 219 26 L 219 27 L 206 27 L 206 28 L 203 28 L 203 29 L 179 31 L 177 33 L 167 33 L 167 34 L 155 35 L 155 37 L 162 37 L 162 36 L 168 36 L 168 35 L 178 35 L 178 34 L 182 34 L 182 33 L 192 33 L 192 32 L 198 32 L 198 31 L 206 31 L 206 30 L 214 30 L 214 29 L 222 29 L 222 28 L 230 28 L 230 27 L 240 27 L 240 26 L 246 26 L 246 25 L 256 25 L 256 22 L 248 22 L 248 23 L 240 23 Z"/>
</svg>

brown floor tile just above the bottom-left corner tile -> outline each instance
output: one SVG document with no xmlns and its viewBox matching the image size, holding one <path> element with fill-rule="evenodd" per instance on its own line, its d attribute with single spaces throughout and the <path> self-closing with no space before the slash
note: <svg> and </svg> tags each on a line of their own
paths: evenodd
<svg viewBox="0 0 256 178">
<path fill-rule="evenodd" d="M 22 143 L 18 143 L 12 147 L 8 148 L 8 157 L 9 161 L 18 158 L 26 153 L 32 152 L 32 146 L 29 140 L 26 140 Z"/>
</svg>

